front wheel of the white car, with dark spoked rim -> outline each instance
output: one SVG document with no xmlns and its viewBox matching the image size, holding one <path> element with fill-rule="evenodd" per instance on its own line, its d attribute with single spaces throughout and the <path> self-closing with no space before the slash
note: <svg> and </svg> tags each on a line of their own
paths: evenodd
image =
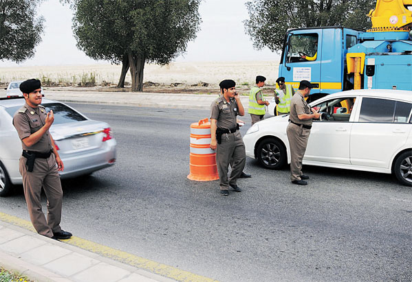
<svg viewBox="0 0 412 282">
<path fill-rule="evenodd" d="M 274 138 L 261 141 L 256 154 L 259 163 L 268 169 L 280 169 L 286 163 L 285 145 Z"/>
</svg>

